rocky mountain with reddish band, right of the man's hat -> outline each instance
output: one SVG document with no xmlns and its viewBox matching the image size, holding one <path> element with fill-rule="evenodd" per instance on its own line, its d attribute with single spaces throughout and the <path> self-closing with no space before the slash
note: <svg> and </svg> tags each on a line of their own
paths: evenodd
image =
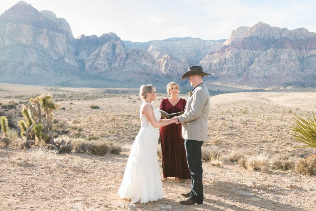
<svg viewBox="0 0 316 211">
<path fill-rule="evenodd" d="M 316 34 L 259 22 L 233 31 L 200 64 L 218 80 L 258 87 L 315 86 Z"/>
</svg>

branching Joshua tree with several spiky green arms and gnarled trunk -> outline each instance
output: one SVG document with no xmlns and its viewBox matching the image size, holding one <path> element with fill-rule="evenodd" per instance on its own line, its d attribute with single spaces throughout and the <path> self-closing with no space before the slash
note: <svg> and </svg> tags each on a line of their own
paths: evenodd
<svg viewBox="0 0 316 211">
<path fill-rule="evenodd" d="M 58 109 L 60 105 L 53 103 L 52 95 L 42 93 L 36 98 L 31 98 L 30 103 L 23 105 L 22 115 L 25 121 L 21 120 L 19 126 L 21 135 L 26 136 L 26 141 L 43 141 L 45 144 L 54 144 L 52 132 L 52 111 Z M 42 111 L 46 114 L 46 120 L 42 119 Z"/>
</svg>

